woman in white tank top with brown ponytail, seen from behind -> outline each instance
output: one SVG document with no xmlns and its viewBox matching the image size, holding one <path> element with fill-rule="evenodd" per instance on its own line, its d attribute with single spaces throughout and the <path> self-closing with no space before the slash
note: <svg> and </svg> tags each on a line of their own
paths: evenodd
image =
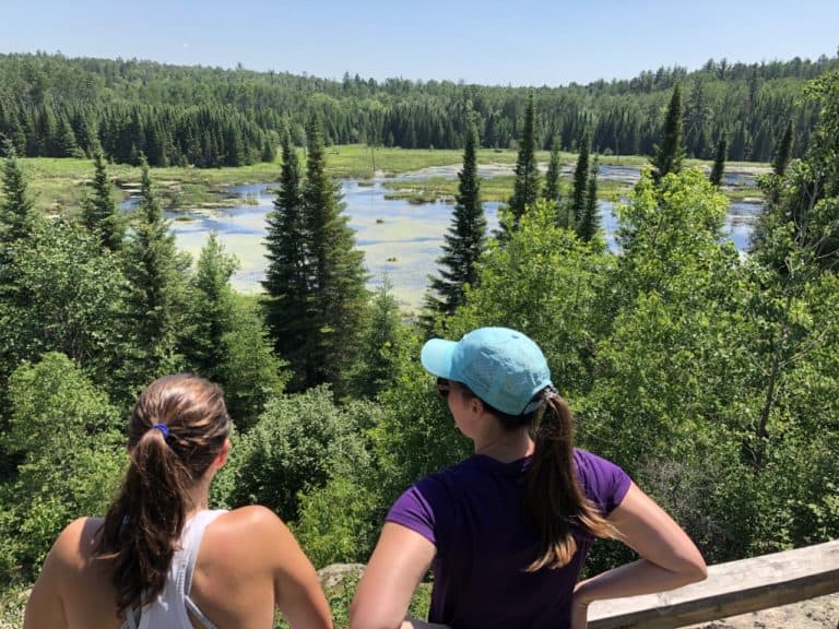
<svg viewBox="0 0 839 629">
<path fill-rule="evenodd" d="M 331 629 L 311 562 L 264 507 L 209 510 L 227 460 L 222 391 L 155 380 L 129 424 L 130 465 L 105 518 L 69 524 L 32 590 L 24 629 Z"/>
</svg>

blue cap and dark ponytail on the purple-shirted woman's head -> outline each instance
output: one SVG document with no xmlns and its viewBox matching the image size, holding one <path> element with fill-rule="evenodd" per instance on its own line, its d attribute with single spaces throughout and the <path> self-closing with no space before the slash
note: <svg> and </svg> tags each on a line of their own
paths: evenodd
<svg viewBox="0 0 839 629">
<path fill-rule="evenodd" d="M 457 342 L 432 339 L 421 361 L 438 378 L 464 385 L 506 430 L 532 429 L 535 449 L 522 501 L 539 530 L 540 550 L 529 570 L 567 565 L 577 548 L 575 524 L 598 536 L 612 534 L 577 483 L 574 416 L 539 345 L 516 330 L 478 328 Z"/>
</svg>

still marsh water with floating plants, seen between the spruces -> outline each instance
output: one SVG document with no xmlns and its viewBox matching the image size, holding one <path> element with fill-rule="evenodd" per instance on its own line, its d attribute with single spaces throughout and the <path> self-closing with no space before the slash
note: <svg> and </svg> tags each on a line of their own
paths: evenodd
<svg viewBox="0 0 839 629">
<path fill-rule="evenodd" d="M 238 203 L 232 199 L 229 209 L 166 213 L 172 219 L 178 247 L 192 253 L 194 259 L 208 235 L 213 230 L 218 233 L 227 253 L 239 261 L 233 285 L 244 293 L 260 290 L 264 273 L 265 214 L 272 209 L 274 199 L 269 186 L 253 183 L 229 188 L 232 194 L 241 199 Z M 374 180 L 373 185 L 347 179 L 342 181 L 341 188 L 350 226 L 356 230 L 356 244 L 365 252 L 369 286 L 380 285 L 387 275 L 397 299 L 409 308 L 420 306 L 427 276 L 436 272 L 435 260 L 440 254 L 453 205 L 441 201 L 416 205 L 405 200 L 385 199 L 388 190 L 381 179 Z M 484 203 L 491 232 L 498 226 L 499 205 L 498 202 Z M 600 207 L 606 241 L 614 249 L 617 222 L 612 214 L 612 204 L 601 202 Z M 752 222 L 759 209 L 755 203 L 731 204 L 726 228 L 737 249 L 747 247 Z"/>
</svg>

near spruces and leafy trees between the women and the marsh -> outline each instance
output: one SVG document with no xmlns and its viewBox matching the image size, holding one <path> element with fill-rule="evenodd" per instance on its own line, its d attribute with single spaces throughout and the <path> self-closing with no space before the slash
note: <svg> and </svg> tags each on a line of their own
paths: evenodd
<svg viewBox="0 0 839 629">
<path fill-rule="evenodd" d="M 587 150 L 570 187 L 558 187 L 555 167 L 536 167 L 535 94 L 515 193 L 487 234 L 478 117 L 466 110 L 451 228 L 420 321 L 387 285 L 364 289 L 317 117 L 305 165 L 291 132 L 281 135 L 257 299 L 229 287 L 235 261 L 215 237 L 194 269 L 175 249 L 147 168 L 129 225 L 102 156 L 78 218 L 48 218 L 7 147 L 2 585 L 31 582 L 68 521 L 102 512 L 122 468 L 126 410 L 151 379 L 179 369 L 220 382 L 235 418 L 212 501 L 274 509 L 317 566 L 366 560 L 394 497 L 469 454 L 418 364 L 423 340 L 497 324 L 539 342 L 581 446 L 624 466 L 710 562 L 836 538 L 839 72 L 802 94 L 818 112 L 799 139 L 804 154 L 791 156 L 785 131 L 775 147 L 746 258 L 723 238 L 725 197 L 684 166 L 681 94 L 671 88 L 650 168 L 616 209 L 617 252 L 587 218 L 590 140 L 578 139 Z M 601 545 L 591 561 L 608 566 L 617 553 Z"/>
</svg>

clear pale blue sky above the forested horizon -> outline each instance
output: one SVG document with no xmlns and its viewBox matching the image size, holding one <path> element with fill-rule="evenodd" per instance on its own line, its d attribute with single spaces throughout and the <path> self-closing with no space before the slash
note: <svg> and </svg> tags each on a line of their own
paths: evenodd
<svg viewBox="0 0 839 629">
<path fill-rule="evenodd" d="M 0 0 L 0 52 L 327 79 L 559 86 L 838 48 L 839 0 Z"/>
</svg>

